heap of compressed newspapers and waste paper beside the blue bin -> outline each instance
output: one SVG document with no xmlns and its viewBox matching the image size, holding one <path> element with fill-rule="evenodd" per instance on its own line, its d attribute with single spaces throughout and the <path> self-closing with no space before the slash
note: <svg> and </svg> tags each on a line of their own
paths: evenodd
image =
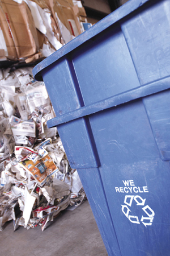
<svg viewBox="0 0 170 256">
<path fill-rule="evenodd" d="M 43 82 L 32 68 L 0 69 L 0 230 L 13 220 L 42 231 L 61 210 L 86 199 L 78 172 L 66 158 Z"/>
</svg>

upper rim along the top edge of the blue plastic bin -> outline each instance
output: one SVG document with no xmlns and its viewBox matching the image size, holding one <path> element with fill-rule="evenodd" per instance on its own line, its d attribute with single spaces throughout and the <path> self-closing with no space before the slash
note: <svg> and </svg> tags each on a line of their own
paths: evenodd
<svg viewBox="0 0 170 256">
<path fill-rule="evenodd" d="M 33 76 L 37 81 L 43 81 L 41 76 L 41 71 L 53 64 L 55 61 L 65 56 L 67 53 L 73 51 L 75 48 L 79 47 L 81 44 L 85 43 L 87 40 L 93 38 L 100 32 L 104 31 L 112 24 L 116 23 L 118 20 L 124 18 L 138 7 L 142 6 L 144 3 L 150 0 L 130 0 L 124 5 L 113 11 L 111 14 L 107 15 L 105 18 L 101 19 L 94 26 L 84 31 L 79 36 L 76 36 L 73 40 L 67 43 L 65 46 L 58 49 L 52 55 L 48 56 L 45 60 L 42 60 L 39 64 L 33 68 Z"/>
</svg>

